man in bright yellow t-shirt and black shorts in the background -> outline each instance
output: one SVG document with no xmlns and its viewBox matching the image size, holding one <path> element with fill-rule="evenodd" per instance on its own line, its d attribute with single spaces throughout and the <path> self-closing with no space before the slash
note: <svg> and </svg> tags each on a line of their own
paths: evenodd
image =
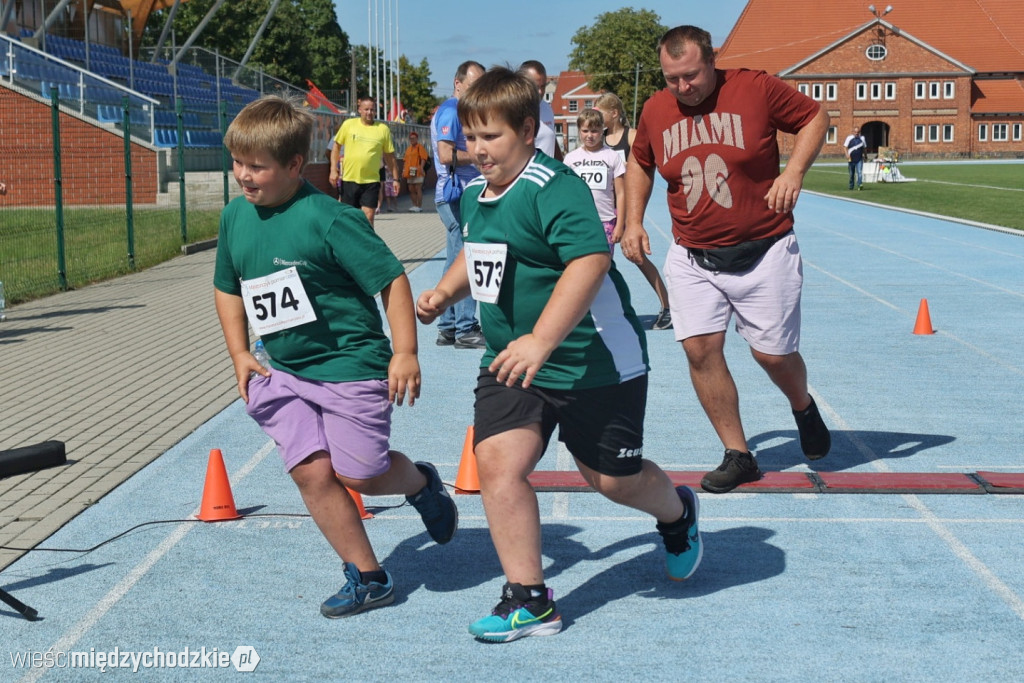
<svg viewBox="0 0 1024 683">
<path fill-rule="evenodd" d="M 377 201 L 381 196 L 381 159 L 387 164 L 392 178 L 398 177 L 398 165 L 394 158 L 391 130 L 386 124 L 374 121 L 377 111 L 374 98 L 360 97 L 357 111 L 359 116 L 347 119 L 334 136 L 330 180 L 331 184 L 338 181 L 339 148 L 344 146 L 345 164 L 341 172 L 341 201 L 361 209 L 373 225 Z"/>
</svg>

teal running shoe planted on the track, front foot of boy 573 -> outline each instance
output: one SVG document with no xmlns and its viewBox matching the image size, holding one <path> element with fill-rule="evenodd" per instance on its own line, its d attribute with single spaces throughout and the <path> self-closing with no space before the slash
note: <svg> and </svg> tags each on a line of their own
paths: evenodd
<svg viewBox="0 0 1024 683">
<path fill-rule="evenodd" d="M 509 643 L 524 636 L 553 636 L 562 630 L 562 617 L 549 588 L 545 595 L 531 597 L 519 584 L 505 584 L 502 601 L 489 616 L 469 625 L 479 640 Z"/>
</svg>

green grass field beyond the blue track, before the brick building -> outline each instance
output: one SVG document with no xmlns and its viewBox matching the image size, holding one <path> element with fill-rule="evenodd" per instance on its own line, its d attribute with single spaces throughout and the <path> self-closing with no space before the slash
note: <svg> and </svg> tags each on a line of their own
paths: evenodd
<svg viewBox="0 0 1024 683">
<path fill-rule="evenodd" d="M 846 166 L 816 164 L 804 188 L 901 209 L 1024 230 L 1024 164 L 902 164 L 913 182 L 865 182 L 847 189 Z M 866 179 L 866 178 L 865 178 Z"/>
</svg>

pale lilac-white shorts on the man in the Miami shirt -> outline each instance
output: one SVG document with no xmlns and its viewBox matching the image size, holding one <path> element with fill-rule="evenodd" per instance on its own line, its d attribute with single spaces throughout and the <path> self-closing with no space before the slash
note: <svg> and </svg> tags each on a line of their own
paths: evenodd
<svg viewBox="0 0 1024 683">
<path fill-rule="evenodd" d="M 736 332 L 757 351 L 786 355 L 800 349 L 800 294 L 804 266 L 797 236 L 782 238 L 750 270 L 705 270 L 672 245 L 665 260 L 676 341 L 724 332 L 736 314 Z"/>
</svg>

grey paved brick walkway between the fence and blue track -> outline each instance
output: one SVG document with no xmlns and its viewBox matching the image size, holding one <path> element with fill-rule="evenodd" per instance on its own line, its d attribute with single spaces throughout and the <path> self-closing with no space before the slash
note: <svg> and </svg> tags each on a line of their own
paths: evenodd
<svg viewBox="0 0 1024 683">
<path fill-rule="evenodd" d="M 381 214 L 376 227 L 407 271 L 444 248 L 432 207 Z M 0 478 L 0 546 L 36 546 L 238 398 L 215 253 L 7 310 L 0 450 L 55 439 L 68 464 Z M 0 569 L 23 554 L 0 550 Z"/>
</svg>

